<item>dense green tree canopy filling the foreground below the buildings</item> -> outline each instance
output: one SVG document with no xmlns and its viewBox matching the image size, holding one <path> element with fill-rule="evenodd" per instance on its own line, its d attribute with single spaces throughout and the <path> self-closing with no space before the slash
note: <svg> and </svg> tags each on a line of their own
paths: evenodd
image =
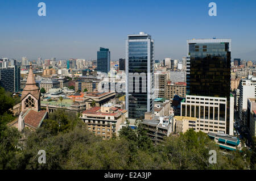
<svg viewBox="0 0 256 181">
<path fill-rule="evenodd" d="M 1 99 L 12 106 L 11 99 Z M 154 144 L 141 125 L 127 125 L 118 137 L 102 140 L 79 115 L 57 110 L 36 131 L 19 133 L 6 126 L 13 119 L 9 107 L 1 113 L 0 169 L 255 169 L 255 148 L 220 150 L 203 132 L 189 130 Z M 38 163 L 39 150 L 46 151 L 46 164 Z M 209 150 L 217 151 L 216 164 L 209 163 Z"/>
</svg>

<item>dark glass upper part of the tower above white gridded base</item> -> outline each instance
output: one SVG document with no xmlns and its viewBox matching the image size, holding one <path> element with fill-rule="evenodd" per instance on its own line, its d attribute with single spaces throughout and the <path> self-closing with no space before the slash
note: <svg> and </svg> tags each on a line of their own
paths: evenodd
<svg viewBox="0 0 256 181">
<path fill-rule="evenodd" d="M 230 43 L 230 39 L 188 40 L 188 95 L 230 97 Z"/>
</svg>

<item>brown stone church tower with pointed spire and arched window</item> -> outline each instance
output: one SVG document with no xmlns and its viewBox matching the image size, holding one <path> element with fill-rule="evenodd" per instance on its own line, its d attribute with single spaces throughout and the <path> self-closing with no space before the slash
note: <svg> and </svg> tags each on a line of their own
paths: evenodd
<svg viewBox="0 0 256 181">
<path fill-rule="evenodd" d="M 40 111 L 40 90 L 36 86 L 35 77 L 32 70 L 32 65 L 30 63 L 30 71 L 27 77 L 27 83 L 22 91 L 22 96 L 20 98 L 22 102 L 22 112 L 26 112 L 29 108 L 35 111 Z"/>
</svg>

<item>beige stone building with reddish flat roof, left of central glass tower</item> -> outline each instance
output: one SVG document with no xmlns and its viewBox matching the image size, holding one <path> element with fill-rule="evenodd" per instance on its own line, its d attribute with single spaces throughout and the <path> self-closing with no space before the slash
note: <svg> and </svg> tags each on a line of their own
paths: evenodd
<svg viewBox="0 0 256 181">
<path fill-rule="evenodd" d="M 88 130 L 108 140 L 118 136 L 120 125 L 125 121 L 127 111 L 108 103 L 101 107 L 92 107 L 82 112 L 80 119 L 88 126 Z"/>
</svg>

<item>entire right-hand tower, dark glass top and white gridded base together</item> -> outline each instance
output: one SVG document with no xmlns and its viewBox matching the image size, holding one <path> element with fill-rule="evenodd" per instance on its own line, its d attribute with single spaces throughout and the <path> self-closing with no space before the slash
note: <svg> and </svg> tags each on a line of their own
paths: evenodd
<svg viewBox="0 0 256 181">
<path fill-rule="evenodd" d="M 181 114 L 196 117 L 200 122 L 197 129 L 204 132 L 233 135 L 230 43 L 230 39 L 187 40 L 188 95 L 181 103 Z"/>
</svg>

